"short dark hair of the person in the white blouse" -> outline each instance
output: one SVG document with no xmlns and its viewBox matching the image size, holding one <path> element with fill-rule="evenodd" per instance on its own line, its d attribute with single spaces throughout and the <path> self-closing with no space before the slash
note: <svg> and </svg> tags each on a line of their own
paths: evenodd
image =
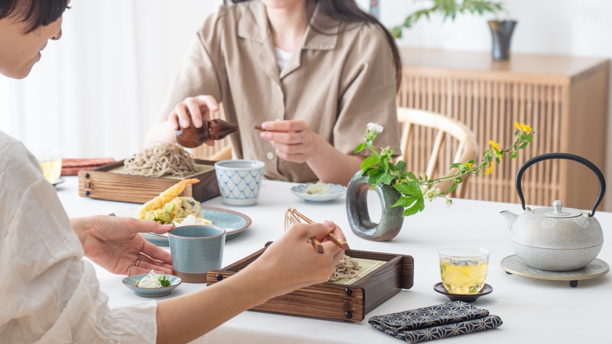
<svg viewBox="0 0 612 344">
<path fill-rule="evenodd" d="M 54 23 L 68 8 L 68 0 L 0 0 L 0 19 L 18 18 L 28 23 L 26 34 Z"/>
</svg>

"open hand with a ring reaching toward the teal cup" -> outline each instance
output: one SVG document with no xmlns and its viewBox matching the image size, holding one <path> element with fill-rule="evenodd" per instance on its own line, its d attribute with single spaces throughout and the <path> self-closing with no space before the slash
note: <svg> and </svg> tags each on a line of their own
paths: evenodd
<svg viewBox="0 0 612 344">
<path fill-rule="evenodd" d="M 173 274 L 170 252 L 138 234 L 164 234 L 172 230 L 173 225 L 108 215 L 70 219 L 70 223 L 81 240 L 85 256 L 113 274 L 127 275 L 130 266 L 130 275 L 147 274 L 151 270 Z"/>
</svg>

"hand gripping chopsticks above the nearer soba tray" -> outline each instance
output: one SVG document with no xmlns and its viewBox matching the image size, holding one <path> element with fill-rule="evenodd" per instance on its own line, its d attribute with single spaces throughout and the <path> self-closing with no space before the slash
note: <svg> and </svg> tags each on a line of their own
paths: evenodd
<svg viewBox="0 0 612 344">
<path fill-rule="evenodd" d="M 244 272 L 251 275 L 253 288 L 261 287 L 261 294 L 280 296 L 305 286 L 323 283 L 334 273 L 344 250 L 331 241 L 327 234 L 334 233 L 341 239 L 344 234 L 334 222 L 294 223 L 287 233 L 275 241 Z M 323 253 L 317 253 L 308 240 L 316 237 L 323 245 Z M 260 282 L 260 283 L 257 283 Z"/>
</svg>

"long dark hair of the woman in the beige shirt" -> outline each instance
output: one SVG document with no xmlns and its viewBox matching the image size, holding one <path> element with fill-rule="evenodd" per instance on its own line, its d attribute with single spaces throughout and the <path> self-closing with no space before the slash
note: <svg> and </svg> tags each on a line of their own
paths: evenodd
<svg viewBox="0 0 612 344">
<path fill-rule="evenodd" d="M 228 2 L 228 0 L 223 1 Z M 244 1 L 249 0 L 231 0 L 231 2 L 234 3 Z M 323 13 L 334 20 L 346 21 L 348 23 L 359 23 L 365 21 L 366 23 L 375 24 L 379 28 L 383 29 L 383 32 L 389 41 L 389 46 L 391 48 L 391 54 L 393 56 L 393 62 L 395 65 L 395 87 L 399 90 L 401 86 L 400 51 L 398 50 L 397 45 L 395 44 L 395 39 L 393 36 L 391 36 L 389 30 L 387 30 L 387 28 L 385 28 L 384 25 L 375 17 L 372 17 L 370 14 L 360 9 L 355 0 L 307 0 L 306 6 L 308 17 L 312 17 L 312 13 L 317 4 L 319 5 L 320 9 L 323 10 Z M 310 18 L 308 18 L 308 21 L 310 21 Z M 316 30 L 317 28 L 313 29 Z"/>
</svg>

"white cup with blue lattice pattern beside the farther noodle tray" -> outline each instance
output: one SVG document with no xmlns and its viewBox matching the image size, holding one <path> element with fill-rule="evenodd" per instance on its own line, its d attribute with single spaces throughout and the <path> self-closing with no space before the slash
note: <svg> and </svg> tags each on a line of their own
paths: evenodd
<svg viewBox="0 0 612 344">
<path fill-rule="evenodd" d="M 223 204 L 254 206 L 259 198 L 259 184 L 264 163 L 258 160 L 222 160 L 215 162 L 217 182 Z"/>
</svg>

